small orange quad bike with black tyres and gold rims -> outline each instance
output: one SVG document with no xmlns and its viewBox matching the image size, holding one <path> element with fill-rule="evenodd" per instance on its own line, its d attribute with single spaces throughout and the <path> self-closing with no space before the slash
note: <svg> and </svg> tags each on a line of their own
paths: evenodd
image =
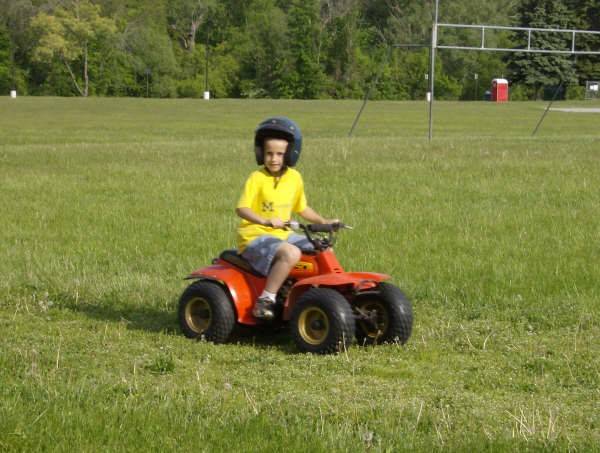
<svg viewBox="0 0 600 453">
<path fill-rule="evenodd" d="M 211 266 L 192 272 L 194 280 L 179 300 L 179 323 L 185 336 L 224 343 L 236 323 L 247 326 L 289 324 L 301 351 L 335 353 L 356 337 L 361 344 L 404 344 L 412 331 L 410 301 L 373 272 L 346 272 L 333 252 L 342 223 L 303 225 L 300 229 L 314 250 L 302 258 L 277 293 L 275 318 L 266 322 L 252 315 L 266 278 L 255 272 L 236 250 L 225 250 Z"/>
</svg>

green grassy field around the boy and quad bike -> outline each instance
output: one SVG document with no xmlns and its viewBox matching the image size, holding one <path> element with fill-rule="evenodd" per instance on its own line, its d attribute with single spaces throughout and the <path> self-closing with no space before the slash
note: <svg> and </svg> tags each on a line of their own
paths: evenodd
<svg viewBox="0 0 600 453">
<path fill-rule="evenodd" d="M 429 144 L 417 102 L 348 139 L 360 102 L 0 98 L 0 451 L 600 451 L 600 115 L 544 106 L 438 103 Z M 272 114 L 405 346 L 179 332 Z"/>
</svg>

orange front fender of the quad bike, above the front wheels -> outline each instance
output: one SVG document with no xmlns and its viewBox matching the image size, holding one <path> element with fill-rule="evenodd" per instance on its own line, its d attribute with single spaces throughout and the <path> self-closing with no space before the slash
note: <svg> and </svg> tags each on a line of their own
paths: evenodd
<svg viewBox="0 0 600 453">
<path fill-rule="evenodd" d="M 286 321 L 291 319 L 296 301 L 310 288 L 331 288 L 345 296 L 360 291 L 367 291 L 389 278 L 390 276 L 387 274 L 378 274 L 376 272 L 340 272 L 304 278 L 296 282 L 292 287 L 283 309 L 283 319 Z"/>
</svg>

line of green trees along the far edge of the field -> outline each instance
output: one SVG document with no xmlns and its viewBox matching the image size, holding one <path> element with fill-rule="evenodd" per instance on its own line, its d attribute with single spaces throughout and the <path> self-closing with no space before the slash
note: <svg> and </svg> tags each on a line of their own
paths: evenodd
<svg viewBox="0 0 600 453">
<path fill-rule="evenodd" d="M 0 0 L 0 94 L 422 99 L 434 1 Z M 597 0 L 441 0 L 440 21 L 600 30 Z M 598 35 L 600 36 L 600 35 Z M 586 36 L 580 49 L 600 49 Z M 440 42 L 474 42 L 445 30 Z M 522 47 L 523 36 L 487 36 Z M 563 49 L 565 35 L 532 45 Z M 494 77 L 532 99 L 600 80 L 598 56 L 438 52 L 436 97 L 481 99 Z"/>
</svg>

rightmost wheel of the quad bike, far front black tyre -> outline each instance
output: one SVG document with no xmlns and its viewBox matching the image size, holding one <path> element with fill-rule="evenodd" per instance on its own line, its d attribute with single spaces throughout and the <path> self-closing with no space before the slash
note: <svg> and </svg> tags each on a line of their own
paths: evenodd
<svg viewBox="0 0 600 453">
<path fill-rule="evenodd" d="M 377 291 L 357 296 L 356 337 L 360 344 L 406 343 L 412 332 L 412 307 L 394 285 L 380 283 Z"/>
</svg>

